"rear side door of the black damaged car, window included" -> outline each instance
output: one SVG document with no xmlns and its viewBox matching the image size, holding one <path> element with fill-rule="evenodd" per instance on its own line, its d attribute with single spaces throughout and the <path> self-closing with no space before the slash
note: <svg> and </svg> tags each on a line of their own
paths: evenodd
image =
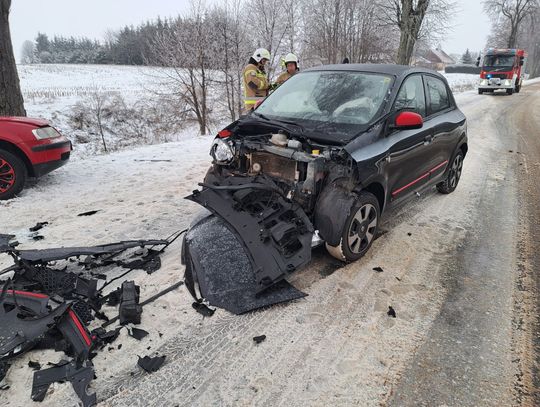
<svg viewBox="0 0 540 407">
<path fill-rule="evenodd" d="M 430 179 L 434 180 L 444 174 L 459 137 L 458 116 L 450 90 L 440 78 L 424 74 L 427 101 L 426 123 L 432 129 L 433 139 L 430 144 L 429 163 Z"/>
</svg>

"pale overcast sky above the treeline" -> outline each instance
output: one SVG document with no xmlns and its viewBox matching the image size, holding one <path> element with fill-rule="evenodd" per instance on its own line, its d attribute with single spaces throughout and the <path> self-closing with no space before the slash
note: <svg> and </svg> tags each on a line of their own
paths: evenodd
<svg viewBox="0 0 540 407">
<path fill-rule="evenodd" d="M 489 23 L 482 12 L 482 2 L 456 2 L 459 10 L 452 20 L 455 27 L 441 42 L 442 48 L 456 54 L 462 54 L 466 48 L 471 51 L 483 49 Z M 175 16 L 188 10 L 188 0 L 13 0 L 10 22 L 15 56 L 19 59 L 22 43 L 34 40 L 38 32 L 50 37 L 56 34 L 103 39 L 107 30 L 137 25 L 158 16 Z"/>
</svg>

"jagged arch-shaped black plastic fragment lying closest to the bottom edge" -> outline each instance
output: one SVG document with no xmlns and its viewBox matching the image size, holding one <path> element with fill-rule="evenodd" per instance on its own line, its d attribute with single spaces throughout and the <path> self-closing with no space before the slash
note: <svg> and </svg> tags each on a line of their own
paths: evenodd
<svg viewBox="0 0 540 407">
<path fill-rule="evenodd" d="M 52 383 L 68 381 L 72 384 L 84 407 L 94 406 L 97 402 L 96 394 L 88 394 L 87 392 L 88 384 L 93 379 L 94 367 L 92 362 L 85 361 L 79 365 L 75 361 L 61 361 L 54 367 L 38 370 L 34 373 L 32 400 L 43 401 Z"/>
</svg>

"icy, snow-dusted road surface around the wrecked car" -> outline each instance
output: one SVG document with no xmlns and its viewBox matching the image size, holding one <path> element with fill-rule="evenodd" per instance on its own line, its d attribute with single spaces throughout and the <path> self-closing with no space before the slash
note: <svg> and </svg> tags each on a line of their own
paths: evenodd
<svg viewBox="0 0 540 407">
<path fill-rule="evenodd" d="M 140 327 L 150 335 L 139 342 L 123 330 L 94 359 L 100 405 L 538 405 L 531 273 L 539 253 L 540 85 L 457 101 L 469 154 L 453 194 L 428 191 L 387 214 L 387 233 L 356 263 L 342 267 L 316 251 L 291 279 L 305 299 L 203 318 L 181 287 L 146 306 Z M 210 143 L 190 138 L 74 161 L 0 203 L 0 232 L 25 248 L 166 237 L 198 210 L 183 197 L 202 179 Z M 76 216 L 89 210 L 99 212 Z M 45 239 L 34 242 L 28 228 L 43 221 Z M 0 257 L 0 267 L 8 264 Z M 161 270 L 131 278 L 146 298 L 182 276 L 175 244 Z M 258 335 L 267 338 L 257 345 Z M 137 355 L 156 353 L 165 365 L 141 372 Z M 18 358 L 0 405 L 31 404 L 28 361 L 62 356 Z M 41 405 L 77 403 L 70 384 L 55 384 Z"/>
</svg>

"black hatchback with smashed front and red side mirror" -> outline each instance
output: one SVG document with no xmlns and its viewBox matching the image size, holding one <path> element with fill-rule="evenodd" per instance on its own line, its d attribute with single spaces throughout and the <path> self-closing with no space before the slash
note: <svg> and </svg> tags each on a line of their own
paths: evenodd
<svg viewBox="0 0 540 407">
<path fill-rule="evenodd" d="M 188 197 L 212 214 L 186 237 L 192 294 L 234 284 L 216 280 L 223 262 L 203 264 L 216 249 L 197 228 L 220 223 L 241 243 L 260 297 L 309 261 L 314 236 L 340 260 L 362 257 L 389 207 L 433 185 L 454 191 L 467 149 L 466 118 L 435 71 L 352 64 L 293 76 L 212 145 L 202 190 Z"/>
</svg>

